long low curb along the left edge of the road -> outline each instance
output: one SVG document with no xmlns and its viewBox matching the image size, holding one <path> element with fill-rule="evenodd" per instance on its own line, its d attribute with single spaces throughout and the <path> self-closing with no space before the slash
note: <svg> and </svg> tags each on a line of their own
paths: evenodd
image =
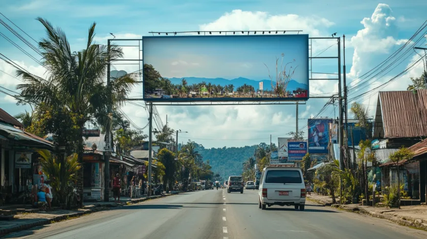
<svg viewBox="0 0 427 239">
<path fill-rule="evenodd" d="M 149 199 L 158 199 L 158 198 L 162 198 L 162 197 L 168 197 L 170 195 L 178 194 L 179 192 L 182 192 L 182 191 L 176 191 L 176 192 L 172 192 L 172 193 L 168 193 L 168 194 L 164 194 L 164 195 L 155 195 L 155 196 L 142 198 L 142 199 L 132 199 L 130 203 L 135 204 L 135 203 L 147 201 Z M 91 206 L 85 206 L 86 210 L 84 210 L 84 211 L 78 211 L 78 212 L 74 212 L 74 213 L 70 213 L 70 214 L 58 215 L 58 216 L 55 216 L 54 218 L 51 218 L 51 219 L 38 219 L 36 222 L 32 222 L 29 224 L 16 225 L 14 227 L 2 229 L 2 230 L 0 230 L 0 236 L 4 236 L 4 235 L 12 233 L 12 232 L 27 230 L 27 229 L 30 229 L 32 227 L 48 225 L 48 224 L 51 224 L 51 222 L 59 222 L 62 220 L 66 220 L 68 217 L 69 218 L 75 218 L 76 216 L 82 216 L 82 215 L 90 214 L 93 212 L 109 210 L 111 207 L 120 206 L 120 204 L 111 203 L 111 204 L 106 204 L 105 206 L 94 204 Z M 85 207 L 83 207 L 83 209 Z"/>
</svg>

